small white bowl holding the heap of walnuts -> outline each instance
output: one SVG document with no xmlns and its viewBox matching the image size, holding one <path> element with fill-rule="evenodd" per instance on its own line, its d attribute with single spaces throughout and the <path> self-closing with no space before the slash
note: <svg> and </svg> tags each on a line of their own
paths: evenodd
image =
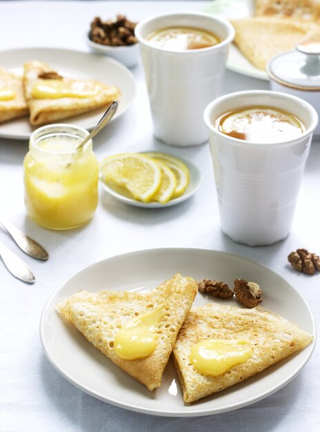
<svg viewBox="0 0 320 432">
<path fill-rule="evenodd" d="M 120 63 L 124 64 L 128 68 L 132 68 L 139 61 L 139 43 L 126 46 L 101 45 L 101 43 L 93 42 L 90 39 L 89 34 L 86 35 L 86 40 L 92 52 L 112 57 L 112 59 L 120 61 Z"/>
</svg>

